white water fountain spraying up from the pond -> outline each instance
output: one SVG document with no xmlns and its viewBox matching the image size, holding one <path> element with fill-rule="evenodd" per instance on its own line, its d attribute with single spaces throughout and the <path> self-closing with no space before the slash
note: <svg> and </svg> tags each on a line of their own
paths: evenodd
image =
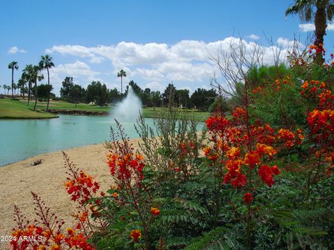
<svg viewBox="0 0 334 250">
<path fill-rule="evenodd" d="M 141 100 L 136 96 L 132 87 L 127 90 L 127 97 L 123 99 L 111 112 L 112 119 L 117 119 L 122 124 L 135 123 L 141 112 Z"/>
</svg>

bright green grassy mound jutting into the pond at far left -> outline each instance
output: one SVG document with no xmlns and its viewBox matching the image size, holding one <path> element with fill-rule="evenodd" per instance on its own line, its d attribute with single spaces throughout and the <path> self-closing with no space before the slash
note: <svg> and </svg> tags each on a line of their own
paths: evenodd
<svg viewBox="0 0 334 250">
<path fill-rule="evenodd" d="M 0 118 L 42 119 L 54 117 L 58 117 L 58 115 L 33 110 L 33 106 L 27 107 L 24 101 L 0 99 Z"/>
</svg>

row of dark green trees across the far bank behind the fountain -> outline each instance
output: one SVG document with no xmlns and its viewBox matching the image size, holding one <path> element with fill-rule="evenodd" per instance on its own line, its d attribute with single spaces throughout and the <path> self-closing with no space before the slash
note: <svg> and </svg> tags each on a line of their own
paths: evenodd
<svg viewBox="0 0 334 250">
<path fill-rule="evenodd" d="M 129 81 L 125 92 L 116 88 L 109 89 L 100 81 L 92 81 L 87 88 L 74 84 L 73 78 L 65 77 L 61 87 L 61 99 L 70 103 L 93 103 L 99 106 L 114 104 L 127 96 L 129 86 L 141 100 L 144 107 L 176 106 L 180 108 L 198 108 L 200 111 L 212 111 L 218 99 L 215 90 L 198 88 L 193 94 L 189 90 L 177 90 L 173 83 L 168 84 L 164 92 L 144 90 L 134 81 Z"/>
</svg>

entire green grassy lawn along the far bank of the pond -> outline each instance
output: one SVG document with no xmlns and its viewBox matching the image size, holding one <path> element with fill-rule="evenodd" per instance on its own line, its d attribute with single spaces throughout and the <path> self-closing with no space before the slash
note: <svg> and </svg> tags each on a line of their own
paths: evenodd
<svg viewBox="0 0 334 250">
<path fill-rule="evenodd" d="M 13 101 L 9 98 L 0 99 L 0 118 L 51 118 L 56 117 L 56 115 L 46 113 L 42 109 L 47 108 L 47 102 L 38 102 L 37 110 L 33 110 L 35 102 L 31 101 L 29 107 L 26 106 L 26 101 Z M 105 111 L 110 112 L 113 110 L 114 106 L 95 106 L 86 103 L 77 104 L 77 108 L 73 103 L 67 103 L 66 101 L 50 101 L 50 109 L 56 110 L 86 110 L 86 111 Z M 157 113 L 161 111 L 162 108 L 143 108 L 143 116 L 147 118 L 157 117 Z M 209 113 L 199 112 L 197 110 L 186 110 L 191 113 L 196 121 L 204 122 Z"/>
</svg>

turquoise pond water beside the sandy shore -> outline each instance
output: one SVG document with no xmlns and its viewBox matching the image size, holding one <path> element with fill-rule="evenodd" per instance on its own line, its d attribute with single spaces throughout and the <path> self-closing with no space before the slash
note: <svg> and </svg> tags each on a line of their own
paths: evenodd
<svg viewBox="0 0 334 250">
<path fill-rule="evenodd" d="M 153 126 L 153 119 L 145 122 Z M 110 139 L 111 117 L 59 115 L 56 119 L 1 119 L 0 166 L 41 153 L 102 143 Z M 129 138 L 138 138 L 132 122 L 122 122 Z"/>
</svg>

